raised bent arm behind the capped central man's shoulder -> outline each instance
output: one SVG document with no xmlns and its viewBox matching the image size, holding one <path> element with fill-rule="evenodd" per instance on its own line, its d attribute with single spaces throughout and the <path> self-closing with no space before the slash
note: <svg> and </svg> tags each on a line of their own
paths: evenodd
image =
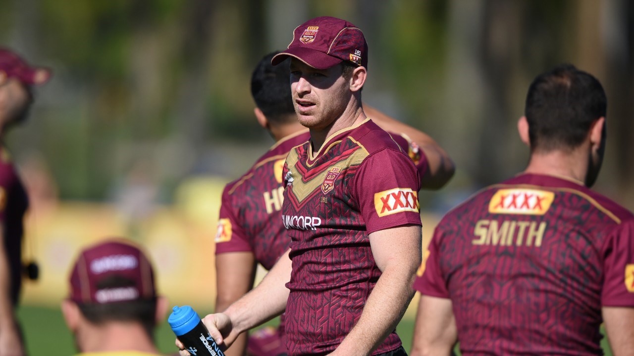
<svg viewBox="0 0 634 356">
<path fill-rule="evenodd" d="M 372 106 L 363 105 L 363 111 L 382 129 L 406 134 L 410 137 L 411 141 L 420 146 L 429 165 L 427 174 L 421 177 L 420 187 L 422 189 L 440 189 L 453 177 L 453 173 L 456 169 L 453 161 L 444 149 L 429 135 L 385 115 L 385 113 L 378 111 Z"/>
</svg>

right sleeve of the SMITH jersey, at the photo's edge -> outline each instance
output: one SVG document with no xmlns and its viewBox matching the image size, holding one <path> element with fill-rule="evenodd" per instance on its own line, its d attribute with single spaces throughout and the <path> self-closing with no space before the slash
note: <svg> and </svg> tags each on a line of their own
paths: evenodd
<svg viewBox="0 0 634 356">
<path fill-rule="evenodd" d="M 604 246 L 604 307 L 634 307 L 634 220 L 619 224 Z"/>
</svg>

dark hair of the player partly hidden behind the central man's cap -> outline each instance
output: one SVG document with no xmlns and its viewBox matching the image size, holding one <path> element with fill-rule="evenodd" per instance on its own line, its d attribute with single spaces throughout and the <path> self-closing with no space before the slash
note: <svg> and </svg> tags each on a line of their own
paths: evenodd
<svg viewBox="0 0 634 356">
<path fill-rule="evenodd" d="M 274 125 L 297 120 L 290 94 L 290 60 L 271 65 L 271 58 L 278 53 L 276 51 L 264 56 L 251 75 L 251 95 L 256 106 Z"/>
</svg>

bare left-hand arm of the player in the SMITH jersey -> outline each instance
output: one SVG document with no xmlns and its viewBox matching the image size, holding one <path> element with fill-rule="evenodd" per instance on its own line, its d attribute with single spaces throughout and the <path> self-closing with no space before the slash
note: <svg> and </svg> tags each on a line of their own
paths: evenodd
<svg viewBox="0 0 634 356">
<path fill-rule="evenodd" d="M 458 340 L 451 300 L 421 295 L 414 325 L 411 356 L 449 356 Z"/>
</svg>

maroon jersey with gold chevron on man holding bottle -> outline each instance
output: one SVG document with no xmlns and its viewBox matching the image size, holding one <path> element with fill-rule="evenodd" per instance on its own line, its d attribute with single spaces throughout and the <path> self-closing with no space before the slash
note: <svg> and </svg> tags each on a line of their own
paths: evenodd
<svg viewBox="0 0 634 356">
<path fill-rule="evenodd" d="M 286 309 L 292 355 L 332 352 L 380 277 L 371 232 L 419 224 L 418 172 L 371 120 L 336 132 L 320 151 L 288 153 L 282 219 L 292 239 Z M 398 243 L 398 241 L 394 241 Z M 398 348 L 394 331 L 374 354 Z"/>
</svg>

